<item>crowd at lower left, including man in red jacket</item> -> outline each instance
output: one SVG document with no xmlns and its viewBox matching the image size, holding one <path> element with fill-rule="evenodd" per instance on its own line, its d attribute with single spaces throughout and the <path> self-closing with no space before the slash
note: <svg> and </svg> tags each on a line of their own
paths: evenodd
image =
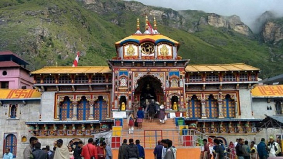
<svg viewBox="0 0 283 159">
<path fill-rule="evenodd" d="M 3 159 L 12 159 L 13 155 L 7 148 Z M 112 150 L 102 140 L 97 144 L 93 138 L 88 139 L 84 145 L 82 141 L 76 143 L 71 141 L 69 145 L 64 145 L 62 139 L 54 142 L 53 151 L 50 146 L 41 148 L 41 143 L 36 137 L 30 137 L 29 145 L 23 153 L 24 159 L 112 159 Z M 11 158 L 12 157 L 12 158 Z"/>
</svg>

